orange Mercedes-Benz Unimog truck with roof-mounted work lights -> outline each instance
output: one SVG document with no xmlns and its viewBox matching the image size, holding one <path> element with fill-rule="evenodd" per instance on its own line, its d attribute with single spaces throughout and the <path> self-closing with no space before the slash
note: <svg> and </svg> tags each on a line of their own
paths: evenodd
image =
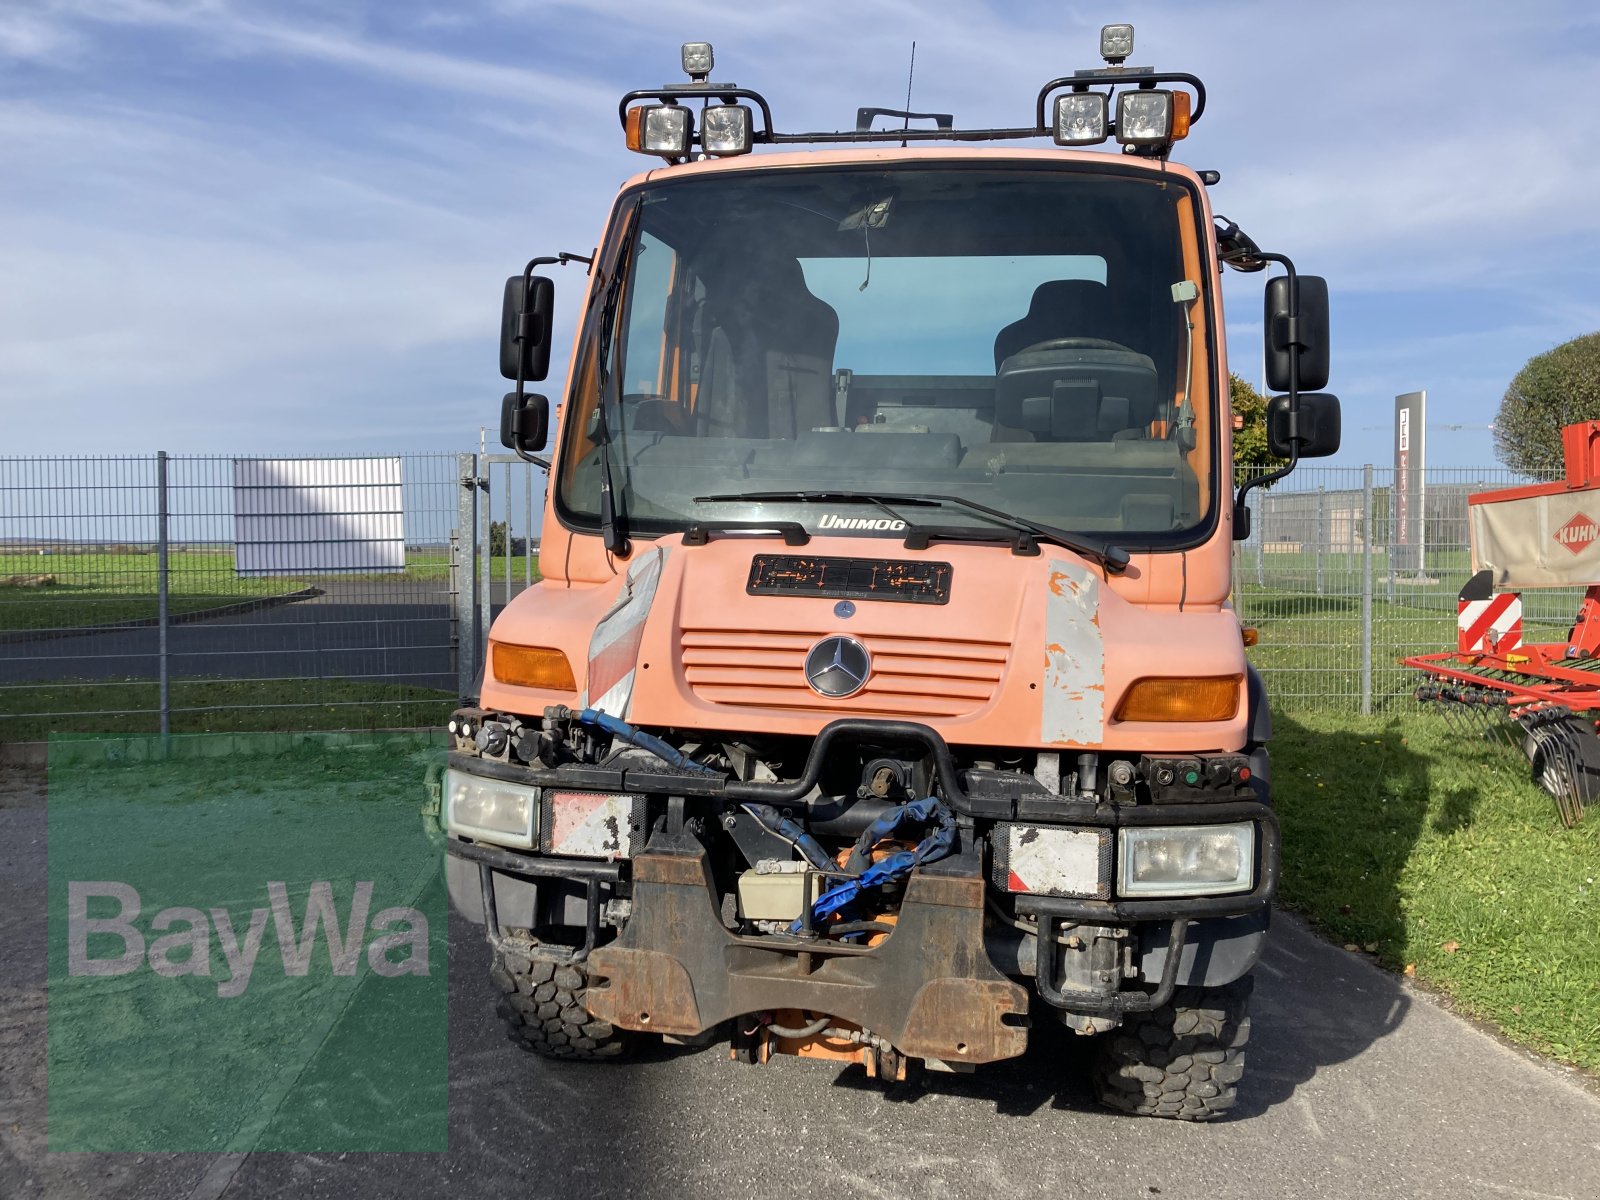
<svg viewBox="0 0 1600 1200">
<path fill-rule="evenodd" d="M 592 259 L 507 282 L 502 437 L 546 466 L 533 272 L 587 264 L 544 581 L 490 630 L 443 808 L 530 1050 L 898 1080 L 1059 1019 L 1114 1107 L 1234 1104 L 1278 822 L 1222 264 L 1285 272 L 1277 474 L 1333 453 L 1338 400 L 1307 394 L 1325 283 L 1213 216 L 1218 173 L 1168 157 L 1205 88 L 1131 43 L 1018 128 L 800 134 L 690 43 L 688 83 L 622 99 L 664 165 Z"/>
</svg>

